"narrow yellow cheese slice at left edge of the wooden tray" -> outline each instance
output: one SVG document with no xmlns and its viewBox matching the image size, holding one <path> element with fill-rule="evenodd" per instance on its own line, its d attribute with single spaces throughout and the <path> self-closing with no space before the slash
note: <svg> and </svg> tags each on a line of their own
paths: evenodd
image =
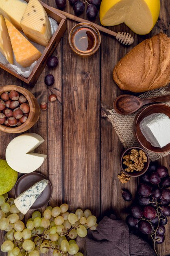
<svg viewBox="0 0 170 256">
<path fill-rule="evenodd" d="M 0 15 L 0 52 L 5 56 L 9 63 L 13 64 L 12 45 L 5 20 L 2 15 Z"/>
</svg>

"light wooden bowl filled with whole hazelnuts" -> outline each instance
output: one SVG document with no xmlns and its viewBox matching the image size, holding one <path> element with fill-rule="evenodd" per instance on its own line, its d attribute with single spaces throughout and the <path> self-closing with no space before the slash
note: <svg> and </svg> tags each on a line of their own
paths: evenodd
<svg viewBox="0 0 170 256">
<path fill-rule="evenodd" d="M 40 109 L 34 95 L 17 85 L 0 87 L 0 130 L 20 133 L 39 119 Z"/>
</svg>

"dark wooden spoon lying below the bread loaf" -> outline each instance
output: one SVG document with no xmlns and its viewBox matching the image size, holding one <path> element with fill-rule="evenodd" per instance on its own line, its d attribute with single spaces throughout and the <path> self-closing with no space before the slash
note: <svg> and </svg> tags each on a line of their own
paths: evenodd
<svg viewBox="0 0 170 256">
<path fill-rule="evenodd" d="M 130 94 L 123 94 L 114 100 L 113 107 L 118 114 L 130 115 L 146 104 L 163 101 L 170 101 L 170 94 L 148 99 L 140 99 Z"/>
</svg>

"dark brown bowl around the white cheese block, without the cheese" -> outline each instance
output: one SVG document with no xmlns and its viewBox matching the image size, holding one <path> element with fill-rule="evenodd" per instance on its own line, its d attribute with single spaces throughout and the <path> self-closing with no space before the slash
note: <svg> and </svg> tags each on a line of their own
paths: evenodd
<svg viewBox="0 0 170 256">
<path fill-rule="evenodd" d="M 148 115 L 151 115 L 153 113 L 163 113 L 170 117 L 170 106 L 165 104 L 154 104 L 144 108 L 135 117 L 135 120 L 133 122 L 133 133 L 142 147 L 156 153 L 167 152 L 168 150 L 170 150 L 170 143 L 164 146 L 163 148 L 154 147 L 150 144 L 150 142 L 146 140 L 146 138 L 144 137 L 140 130 L 140 122 L 144 119 L 144 117 L 147 117 Z"/>
</svg>

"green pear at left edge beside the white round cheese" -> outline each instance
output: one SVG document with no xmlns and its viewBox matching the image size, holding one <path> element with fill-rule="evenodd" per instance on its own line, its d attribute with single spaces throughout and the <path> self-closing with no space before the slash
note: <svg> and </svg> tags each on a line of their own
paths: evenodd
<svg viewBox="0 0 170 256">
<path fill-rule="evenodd" d="M 10 191 L 17 181 L 18 173 L 14 171 L 7 161 L 0 159 L 0 195 Z"/>
</svg>

